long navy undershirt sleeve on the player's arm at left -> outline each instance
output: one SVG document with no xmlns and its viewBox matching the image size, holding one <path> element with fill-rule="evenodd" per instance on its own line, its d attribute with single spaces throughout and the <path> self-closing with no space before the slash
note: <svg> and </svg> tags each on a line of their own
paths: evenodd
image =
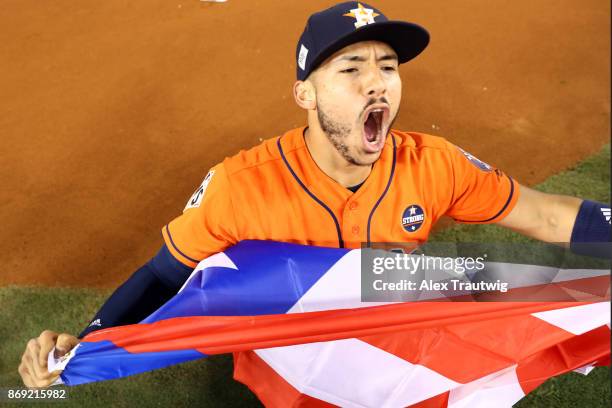
<svg viewBox="0 0 612 408">
<path fill-rule="evenodd" d="M 140 322 L 170 300 L 192 270 L 174 258 L 164 245 L 113 292 L 78 337 L 107 327 Z"/>
</svg>

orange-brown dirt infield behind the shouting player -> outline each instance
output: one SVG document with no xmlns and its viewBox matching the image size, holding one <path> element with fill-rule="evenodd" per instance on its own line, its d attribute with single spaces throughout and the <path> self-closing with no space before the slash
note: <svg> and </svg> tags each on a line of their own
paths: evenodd
<svg viewBox="0 0 612 408">
<path fill-rule="evenodd" d="M 0 285 L 116 286 L 152 256 L 210 166 L 304 123 L 295 42 L 330 4 L 4 2 Z M 609 2 L 373 4 L 432 37 L 397 128 L 526 184 L 609 140 Z"/>
</svg>

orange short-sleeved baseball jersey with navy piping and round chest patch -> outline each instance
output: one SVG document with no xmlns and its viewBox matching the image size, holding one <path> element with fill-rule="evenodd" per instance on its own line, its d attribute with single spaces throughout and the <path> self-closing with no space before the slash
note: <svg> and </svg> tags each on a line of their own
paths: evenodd
<svg viewBox="0 0 612 408">
<path fill-rule="evenodd" d="M 511 178 L 445 139 L 396 130 L 352 193 L 318 168 L 303 132 L 291 130 L 215 166 L 183 215 L 163 228 L 171 253 L 193 267 L 245 239 L 347 248 L 423 242 L 442 215 L 499 221 L 519 195 Z"/>
</svg>

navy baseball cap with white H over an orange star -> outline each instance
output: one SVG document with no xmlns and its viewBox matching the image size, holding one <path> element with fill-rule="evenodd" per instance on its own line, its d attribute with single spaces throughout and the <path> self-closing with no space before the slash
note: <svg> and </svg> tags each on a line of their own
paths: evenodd
<svg viewBox="0 0 612 408">
<path fill-rule="evenodd" d="M 336 51 L 356 42 L 371 40 L 389 44 L 402 64 L 427 47 L 429 33 L 417 24 L 391 21 L 366 3 L 347 1 L 336 4 L 308 18 L 295 52 L 297 79 L 306 79 Z"/>
</svg>

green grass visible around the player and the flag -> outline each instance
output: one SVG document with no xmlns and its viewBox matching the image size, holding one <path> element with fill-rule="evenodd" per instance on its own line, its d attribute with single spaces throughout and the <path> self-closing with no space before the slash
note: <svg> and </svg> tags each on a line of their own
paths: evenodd
<svg viewBox="0 0 612 408">
<path fill-rule="evenodd" d="M 537 189 L 610 202 L 610 146 Z M 434 237 L 440 242 L 526 242 L 495 226 L 461 225 Z M 109 291 L 0 288 L 0 388 L 19 387 L 17 366 L 25 343 L 43 329 L 78 333 Z M 261 406 L 253 394 L 232 380 L 230 356 L 215 356 L 115 381 L 69 388 L 70 407 Z M 14 403 L 11 406 L 30 405 Z M 588 376 L 569 373 L 547 381 L 518 407 L 609 407 L 610 370 Z"/>
</svg>

